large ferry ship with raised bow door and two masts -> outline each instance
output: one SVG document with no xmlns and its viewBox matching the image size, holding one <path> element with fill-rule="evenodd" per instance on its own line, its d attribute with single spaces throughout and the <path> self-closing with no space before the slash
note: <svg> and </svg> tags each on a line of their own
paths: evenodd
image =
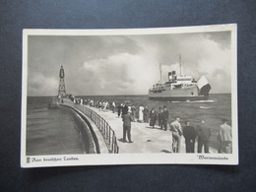
<svg viewBox="0 0 256 192">
<path fill-rule="evenodd" d="M 179 68 L 180 75 L 176 75 L 176 71 L 168 72 L 168 81 L 162 84 L 160 80 L 158 84 L 155 84 L 153 88 L 149 90 L 149 98 L 168 101 L 207 100 L 211 90 L 211 85 L 207 78 L 202 76 L 196 81 L 192 76 L 182 76 L 180 56 Z"/>
</svg>

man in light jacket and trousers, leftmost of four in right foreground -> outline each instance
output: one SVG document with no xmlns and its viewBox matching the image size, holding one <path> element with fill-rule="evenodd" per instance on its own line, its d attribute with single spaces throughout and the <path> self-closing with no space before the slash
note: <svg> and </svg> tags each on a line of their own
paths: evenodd
<svg viewBox="0 0 256 192">
<path fill-rule="evenodd" d="M 179 121 L 180 121 L 180 118 L 176 117 L 175 120 L 172 123 L 170 123 L 170 130 L 172 131 L 173 153 L 180 153 L 180 139 L 182 136 L 182 129 Z"/>
</svg>

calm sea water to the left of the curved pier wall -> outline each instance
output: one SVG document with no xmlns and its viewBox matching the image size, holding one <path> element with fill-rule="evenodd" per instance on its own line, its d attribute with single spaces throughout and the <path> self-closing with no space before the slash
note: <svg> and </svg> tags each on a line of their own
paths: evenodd
<svg viewBox="0 0 256 192">
<path fill-rule="evenodd" d="M 27 156 L 84 154 L 82 134 L 69 109 L 48 109 L 49 96 L 29 96 Z"/>
</svg>

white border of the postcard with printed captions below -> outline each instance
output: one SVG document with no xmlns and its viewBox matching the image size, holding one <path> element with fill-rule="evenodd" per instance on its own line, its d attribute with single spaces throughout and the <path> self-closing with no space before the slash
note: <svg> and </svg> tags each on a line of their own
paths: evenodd
<svg viewBox="0 0 256 192">
<path fill-rule="evenodd" d="M 231 32 L 231 118 L 233 142 L 231 155 L 227 154 L 100 154 L 26 156 L 28 36 L 29 35 L 117 35 L 163 34 L 188 32 Z M 22 78 L 21 166 L 73 166 L 99 164 L 238 164 L 237 118 L 237 26 L 236 24 L 132 30 L 24 30 Z"/>
</svg>

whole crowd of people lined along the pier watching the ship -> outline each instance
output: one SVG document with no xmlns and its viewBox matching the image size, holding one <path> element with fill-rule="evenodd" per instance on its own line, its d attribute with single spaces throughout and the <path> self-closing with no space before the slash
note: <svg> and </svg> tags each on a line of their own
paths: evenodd
<svg viewBox="0 0 256 192">
<path fill-rule="evenodd" d="M 131 140 L 131 122 L 149 123 L 152 128 L 158 128 L 172 132 L 172 152 L 180 153 L 181 138 L 185 139 L 186 153 L 195 153 L 195 144 L 197 140 L 197 153 L 202 153 L 204 148 L 205 153 L 209 153 L 210 138 L 212 136 L 211 129 L 206 125 L 204 120 L 200 124 L 192 126 L 189 121 L 185 121 L 185 126 L 180 124 L 180 117 L 169 123 L 169 111 L 166 106 L 159 107 L 159 109 L 149 108 L 147 105 L 137 105 L 127 102 L 119 102 L 107 100 L 93 100 L 93 99 L 74 99 L 76 104 L 87 104 L 98 108 L 100 111 L 117 112 L 117 116 L 122 118 L 123 121 L 123 142 L 133 143 Z M 126 140 L 128 137 L 128 141 Z M 232 152 L 232 131 L 231 127 L 227 124 L 227 120 L 223 119 L 218 132 L 219 153 L 231 154 Z"/>
</svg>

